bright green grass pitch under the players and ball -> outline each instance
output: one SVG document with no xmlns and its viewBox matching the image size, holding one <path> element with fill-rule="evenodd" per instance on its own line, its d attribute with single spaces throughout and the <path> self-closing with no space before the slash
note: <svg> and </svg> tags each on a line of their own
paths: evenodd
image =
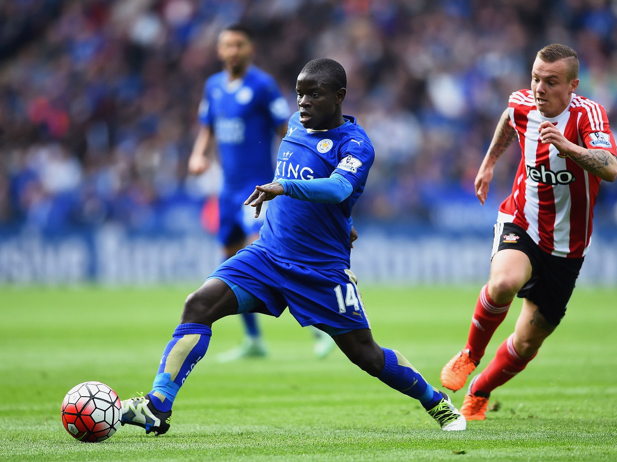
<svg viewBox="0 0 617 462">
<path fill-rule="evenodd" d="M 438 385 L 478 290 L 375 287 L 363 299 L 379 344 Z M 70 437 L 59 410 L 73 385 L 100 380 L 124 398 L 149 391 L 188 292 L 0 288 L 0 460 L 617 460 L 617 291 L 582 288 L 527 370 L 493 393 L 499 410 L 465 432 L 442 432 L 339 351 L 315 359 L 310 331 L 286 313 L 262 317 L 263 360 L 214 362 L 241 338 L 237 319 L 215 324 L 165 436 L 126 426 L 102 444 Z M 519 310 L 516 300 L 480 368 Z M 462 399 L 453 395 L 455 405 Z"/>
</svg>

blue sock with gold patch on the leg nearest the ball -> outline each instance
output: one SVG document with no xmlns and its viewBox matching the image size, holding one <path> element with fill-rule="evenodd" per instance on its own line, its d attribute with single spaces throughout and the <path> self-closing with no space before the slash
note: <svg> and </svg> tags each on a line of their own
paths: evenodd
<svg viewBox="0 0 617 462">
<path fill-rule="evenodd" d="M 184 384 L 210 344 L 212 329 L 204 324 L 180 324 L 160 359 L 159 371 L 149 393 L 152 404 L 159 411 L 172 408 L 178 390 Z"/>
</svg>

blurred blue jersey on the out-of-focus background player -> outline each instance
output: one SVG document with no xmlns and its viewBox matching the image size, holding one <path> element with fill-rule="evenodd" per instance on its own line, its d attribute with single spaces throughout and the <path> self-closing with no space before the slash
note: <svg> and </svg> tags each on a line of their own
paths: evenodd
<svg viewBox="0 0 617 462">
<path fill-rule="evenodd" d="M 270 182 L 272 137 L 288 117 L 289 106 L 275 79 L 255 66 L 231 82 L 226 71 L 207 79 L 199 121 L 215 134 L 224 189 Z"/>
</svg>

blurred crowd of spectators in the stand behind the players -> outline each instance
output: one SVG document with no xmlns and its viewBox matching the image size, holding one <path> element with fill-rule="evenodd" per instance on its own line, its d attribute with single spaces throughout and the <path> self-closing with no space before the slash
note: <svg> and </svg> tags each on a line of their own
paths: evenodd
<svg viewBox="0 0 617 462">
<path fill-rule="evenodd" d="M 305 62 L 346 68 L 344 111 L 376 148 L 355 216 L 429 222 L 436 204 L 474 200 L 495 123 L 545 44 L 579 52 L 578 93 L 617 124 L 616 18 L 604 0 L 4 0 L 0 224 L 199 227 L 220 172 L 186 163 L 218 32 L 235 22 L 292 108 Z M 495 202 L 519 161 L 514 146 L 498 164 Z M 596 215 L 617 220 L 616 203 L 603 184 Z"/>
</svg>

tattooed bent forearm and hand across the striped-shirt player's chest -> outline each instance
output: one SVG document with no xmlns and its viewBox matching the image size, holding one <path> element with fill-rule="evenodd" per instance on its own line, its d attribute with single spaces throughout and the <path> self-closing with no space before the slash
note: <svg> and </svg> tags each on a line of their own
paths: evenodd
<svg viewBox="0 0 617 462">
<path fill-rule="evenodd" d="M 542 122 L 538 131 L 542 144 L 552 144 L 589 173 L 606 181 L 615 181 L 617 178 L 617 157 L 610 151 L 576 145 L 568 141 L 549 121 Z"/>
</svg>

